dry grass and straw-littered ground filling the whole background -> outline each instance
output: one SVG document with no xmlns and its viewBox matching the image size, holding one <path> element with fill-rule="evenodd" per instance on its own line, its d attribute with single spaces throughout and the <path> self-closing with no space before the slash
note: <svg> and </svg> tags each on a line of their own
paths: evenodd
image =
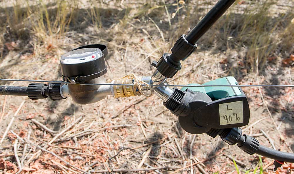
<svg viewBox="0 0 294 174">
<path fill-rule="evenodd" d="M 119 78 L 130 72 L 150 75 L 154 70 L 151 61 L 170 52 L 178 36 L 187 34 L 215 3 L 189 1 L 180 4 L 179 1 L 162 0 L 115 0 L 107 3 L 93 0 L 1 1 L 0 77 L 60 80 L 61 54 L 77 46 L 95 43 L 106 44 L 109 49 L 106 78 Z M 260 83 L 291 84 L 293 68 L 291 65 L 282 66 L 282 61 L 294 51 L 294 15 L 291 9 L 293 6 L 285 4 L 286 1 L 236 2 L 201 38 L 198 49 L 183 62 L 183 70 L 171 83 L 204 83 L 228 75 L 235 76 L 243 84 L 255 83 L 256 65 L 259 65 Z M 244 91 L 253 108 L 250 123 L 260 117 L 266 118 L 258 125 L 248 127 L 246 133 L 259 133 L 259 128 L 263 127 L 263 130 L 270 131 L 269 135 L 275 135 L 275 128 L 260 104 L 262 101 L 258 88 L 244 88 Z M 270 102 L 268 106 L 280 110 L 272 111 L 273 117 L 277 124 L 285 123 L 280 130 L 291 139 L 293 134 L 285 130 L 293 125 L 293 92 L 290 89 L 262 92 L 265 100 Z M 265 95 L 271 92 L 275 92 L 272 98 L 271 95 Z M 275 101 L 275 98 L 280 100 Z M 3 99 L 0 96 L 0 107 L 6 108 L 0 134 L 11 120 L 10 111 L 16 111 L 25 98 L 8 96 L 6 103 Z M 201 166 L 208 173 L 234 171 L 233 162 L 220 155 L 220 152 L 231 153 L 235 159 L 246 163 L 247 166 L 240 167 L 240 171 L 253 171 L 258 164 L 256 156 L 245 155 L 236 147 L 225 149 L 220 139 L 212 140 L 206 135 L 197 135 L 195 140 L 193 135 L 177 127 L 177 118 L 165 111 L 162 101 L 156 96 L 135 99 L 108 97 L 86 106 L 75 105 L 70 99 L 58 102 L 26 100 L 12 129 L 17 134 L 23 131 L 23 137 L 31 130 L 31 141 L 46 147 L 46 142 L 56 134 L 41 131 L 31 122 L 32 117 L 54 131 L 61 131 L 79 116 L 83 116 L 83 120 L 59 137 L 69 139 L 54 141 L 47 149 L 81 169 L 107 172 L 120 168 L 136 169 L 143 164 L 141 168 L 159 167 L 149 173 L 177 170 L 178 173 L 188 173 L 190 168 L 183 168 L 192 161 L 189 159 L 191 153 L 191 156 L 201 161 L 206 160 Z M 89 134 L 73 138 L 83 131 Z M 266 138 L 259 138 L 261 143 L 269 145 Z M 10 134 L 3 143 L 7 148 L 0 149 L 0 153 L 7 153 L 4 159 L 17 164 L 14 155 L 9 155 L 13 154 L 13 148 L 9 145 L 14 140 L 15 137 Z M 20 141 L 18 148 L 23 150 L 24 144 Z M 275 144 L 288 151 L 289 147 L 279 140 L 275 140 Z M 193 149 L 190 150 L 190 147 Z M 28 149 L 32 150 L 27 152 L 29 157 L 38 151 L 31 147 Z M 27 163 L 27 160 L 24 162 Z M 90 166 L 93 162 L 97 163 Z M 270 162 L 267 159 L 263 161 L 264 164 Z M 250 166 L 252 163 L 253 167 Z M 75 170 L 61 165 L 65 163 L 46 152 L 41 153 L 38 160 L 26 164 L 30 168 L 58 170 L 61 173 L 73 173 L 72 170 Z M 196 166 L 193 170 L 199 172 Z"/>
</svg>

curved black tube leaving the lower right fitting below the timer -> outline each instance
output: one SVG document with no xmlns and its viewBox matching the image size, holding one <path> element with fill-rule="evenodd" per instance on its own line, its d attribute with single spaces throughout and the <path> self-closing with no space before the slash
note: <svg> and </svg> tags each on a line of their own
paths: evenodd
<svg viewBox="0 0 294 174">
<path fill-rule="evenodd" d="M 294 153 L 281 152 L 278 150 L 267 148 L 263 145 L 259 146 L 256 154 L 278 161 L 294 163 Z"/>
</svg>

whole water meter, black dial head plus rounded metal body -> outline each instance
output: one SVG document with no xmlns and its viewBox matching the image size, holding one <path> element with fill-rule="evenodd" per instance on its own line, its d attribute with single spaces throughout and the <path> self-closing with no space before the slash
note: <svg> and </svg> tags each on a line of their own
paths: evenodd
<svg viewBox="0 0 294 174">
<path fill-rule="evenodd" d="M 107 54 L 107 46 L 95 44 L 76 48 L 61 56 L 62 78 L 71 83 L 67 85 L 68 93 L 75 103 L 95 103 L 107 95 L 111 95 L 110 86 L 76 85 L 105 83 L 104 74 L 107 72 L 105 57 Z"/>
</svg>

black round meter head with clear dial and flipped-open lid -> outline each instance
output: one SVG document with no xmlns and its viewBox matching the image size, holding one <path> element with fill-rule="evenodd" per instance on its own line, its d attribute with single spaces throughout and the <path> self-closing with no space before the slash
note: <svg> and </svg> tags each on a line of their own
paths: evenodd
<svg viewBox="0 0 294 174">
<path fill-rule="evenodd" d="M 61 56 L 61 74 L 64 81 L 74 79 L 76 83 L 103 76 L 107 72 L 105 57 L 107 46 L 102 44 L 86 45 L 75 48 Z"/>
</svg>

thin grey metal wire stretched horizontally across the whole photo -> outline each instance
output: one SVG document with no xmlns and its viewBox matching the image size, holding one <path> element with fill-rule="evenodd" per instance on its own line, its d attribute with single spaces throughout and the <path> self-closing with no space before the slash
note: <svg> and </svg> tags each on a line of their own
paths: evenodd
<svg viewBox="0 0 294 174">
<path fill-rule="evenodd" d="M 49 82 L 49 83 L 66 83 L 71 84 L 66 81 L 48 81 L 48 80 L 26 80 L 26 79 L 5 79 L 0 78 L 0 81 L 24 81 L 24 82 Z M 100 86 L 109 86 L 109 85 L 121 85 L 121 86 L 133 86 L 132 84 L 121 84 L 121 83 L 76 83 L 76 85 L 100 85 Z M 169 86 L 169 87 L 214 87 L 214 86 L 223 86 L 223 87 L 291 87 L 294 85 L 181 85 L 181 84 L 160 84 L 160 85 L 150 85 L 150 86 Z"/>
</svg>

